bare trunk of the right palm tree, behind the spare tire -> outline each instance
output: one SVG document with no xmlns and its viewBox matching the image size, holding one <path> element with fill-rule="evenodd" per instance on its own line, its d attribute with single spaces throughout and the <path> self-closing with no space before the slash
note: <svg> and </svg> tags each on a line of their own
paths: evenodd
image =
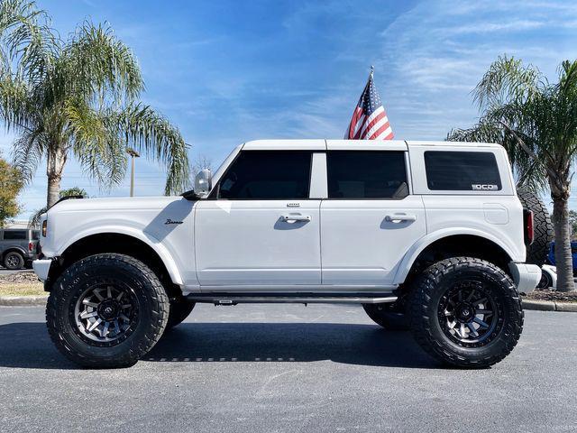
<svg viewBox="0 0 577 433">
<path fill-rule="evenodd" d="M 567 199 L 551 194 L 553 198 L 553 225 L 555 234 L 555 265 L 557 266 L 557 290 L 575 290 L 571 253 L 571 229 Z"/>
</svg>

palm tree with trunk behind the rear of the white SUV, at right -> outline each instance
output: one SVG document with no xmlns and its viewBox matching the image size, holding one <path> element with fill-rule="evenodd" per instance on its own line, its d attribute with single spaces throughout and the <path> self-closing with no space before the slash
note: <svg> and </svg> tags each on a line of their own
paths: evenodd
<svg viewBox="0 0 577 433">
<path fill-rule="evenodd" d="M 502 143 L 517 184 L 549 189 L 553 199 L 557 290 L 574 290 L 568 199 L 577 152 L 577 60 L 563 61 L 550 83 L 535 67 L 499 57 L 473 91 L 481 118 L 449 140 Z"/>
</svg>

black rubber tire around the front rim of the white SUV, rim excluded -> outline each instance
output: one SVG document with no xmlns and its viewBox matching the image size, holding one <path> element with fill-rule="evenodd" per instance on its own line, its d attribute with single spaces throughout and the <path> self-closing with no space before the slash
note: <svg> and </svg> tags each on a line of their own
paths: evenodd
<svg viewBox="0 0 577 433">
<path fill-rule="evenodd" d="M 79 292 L 98 281 L 127 284 L 138 302 L 139 319 L 133 333 L 111 347 L 88 344 L 73 329 L 70 318 Z M 75 364 L 89 368 L 117 368 L 136 364 L 158 342 L 169 318 L 169 299 L 158 277 L 144 263 L 124 254 L 101 253 L 69 266 L 52 285 L 46 306 L 50 338 Z"/>
</svg>

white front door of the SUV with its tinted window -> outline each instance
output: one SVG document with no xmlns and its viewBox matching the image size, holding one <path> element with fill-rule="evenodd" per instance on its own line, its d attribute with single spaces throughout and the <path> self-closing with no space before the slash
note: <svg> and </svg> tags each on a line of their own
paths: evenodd
<svg viewBox="0 0 577 433">
<path fill-rule="evenodd" d="M 241 151 L 213 196 L 197 203 L 201 290 L 274 290 L 321 282 L 320 200 L 312 152 Z"/>
</svg>

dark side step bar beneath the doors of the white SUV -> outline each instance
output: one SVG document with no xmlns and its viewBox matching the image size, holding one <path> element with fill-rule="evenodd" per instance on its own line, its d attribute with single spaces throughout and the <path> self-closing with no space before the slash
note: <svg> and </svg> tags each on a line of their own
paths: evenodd
<svg viewBox="0 0 577 433">
<path fill-rule="evenodd" d="M 381 304 L 395 302 L 396 296 L 255 296 L 255 295 L 215 295 L 215 294 L 190 294 L 187 299 L 194 302 L 205 302 L 215 305 L 236 304 Z"/>
</svg>

